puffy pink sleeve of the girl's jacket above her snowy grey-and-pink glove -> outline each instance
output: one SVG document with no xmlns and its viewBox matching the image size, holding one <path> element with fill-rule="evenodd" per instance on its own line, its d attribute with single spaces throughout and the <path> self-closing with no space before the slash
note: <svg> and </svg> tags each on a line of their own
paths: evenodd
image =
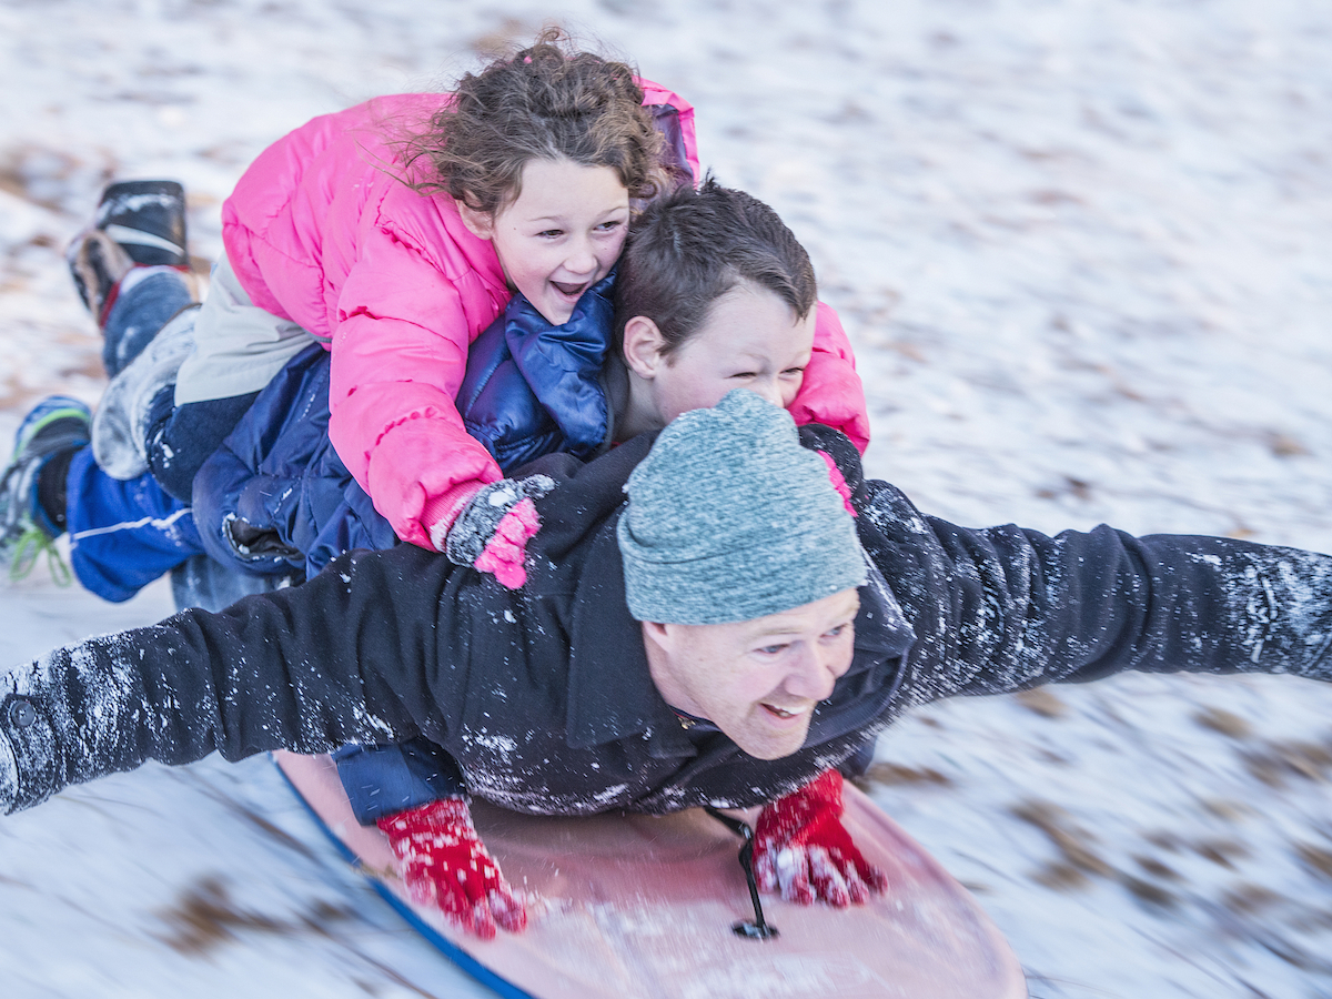
<svg viewBox="0 0 1332 999">
<path fill-rule="evenodd" d="M 329 438 L 402 541 L 433 549 L 450 497 L 501 478 L 454 398 L 469 322 L 456 285 L 386 234 L 362 246 L 333 336 Z"/>
</svg>

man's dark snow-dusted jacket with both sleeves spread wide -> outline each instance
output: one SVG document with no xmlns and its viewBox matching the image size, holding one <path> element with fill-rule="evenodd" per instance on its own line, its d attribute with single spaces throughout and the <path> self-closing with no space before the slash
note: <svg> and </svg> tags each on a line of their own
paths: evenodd
<svg viewBox="0 0 1332 999">
<path fill-rule="evenodd" d="M 836 434 L 872 565 L 855 653 L 798 753 L 759 761 L 678 718 L 651 682 L 615 541 L 650 437 L 538 501 L 526 587 L 400 545 L 221 614 L 186 611 L 0 677 L 0 809 L 218 751 L 322 753 L 424 737 L 470 790 L 521 811 L 754 806 L 838 763 L 914 705 L 1120 670 L 1332 675 L 1332 557 L 1231 538 L 1046 537 L 922 515 L 863 481 Z"/>
</svg>

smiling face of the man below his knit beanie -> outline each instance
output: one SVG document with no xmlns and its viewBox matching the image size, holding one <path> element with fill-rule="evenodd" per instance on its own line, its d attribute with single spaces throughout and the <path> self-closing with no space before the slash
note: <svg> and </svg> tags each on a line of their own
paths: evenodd
<svg viewBox="0 0 1332 999">
<path fill-rule="evenodd" d="M 859 607 L 850 589 L 733 625 L 643 622 L 653 682 L 666 703 L 713 722 L 751 757 L 789 757 L 851 667 Z"/>
</svg>

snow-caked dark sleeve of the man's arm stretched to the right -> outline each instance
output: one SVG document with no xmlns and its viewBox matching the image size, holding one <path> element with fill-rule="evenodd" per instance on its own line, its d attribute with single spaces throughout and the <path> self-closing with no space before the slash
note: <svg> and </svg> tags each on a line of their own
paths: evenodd
<svg viewBox="0 0 1332 999">
<path fill-rule="evenodd" d="M 915 703 L 1147 673 L 1332 679 L 1332 557 L 1232 538 L 1047 537 L 923 517 L 886 482 L 858 526 L 916 642 Z"/>
</svg>

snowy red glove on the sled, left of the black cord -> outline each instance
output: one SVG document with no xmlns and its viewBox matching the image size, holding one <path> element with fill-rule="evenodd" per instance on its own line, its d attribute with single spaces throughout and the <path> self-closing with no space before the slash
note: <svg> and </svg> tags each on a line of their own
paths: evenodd
<svg viewBox="0 0 1332 999">
<path fill-rule="evenodd" d="M 472 825 L 462 798 L 445 798 L 378 819 L 412 900 L 437 906 L 468 932 L 489 940 L 496 923 L 509 932 L 527 926 L 500 864 Z"/>
</svg>

